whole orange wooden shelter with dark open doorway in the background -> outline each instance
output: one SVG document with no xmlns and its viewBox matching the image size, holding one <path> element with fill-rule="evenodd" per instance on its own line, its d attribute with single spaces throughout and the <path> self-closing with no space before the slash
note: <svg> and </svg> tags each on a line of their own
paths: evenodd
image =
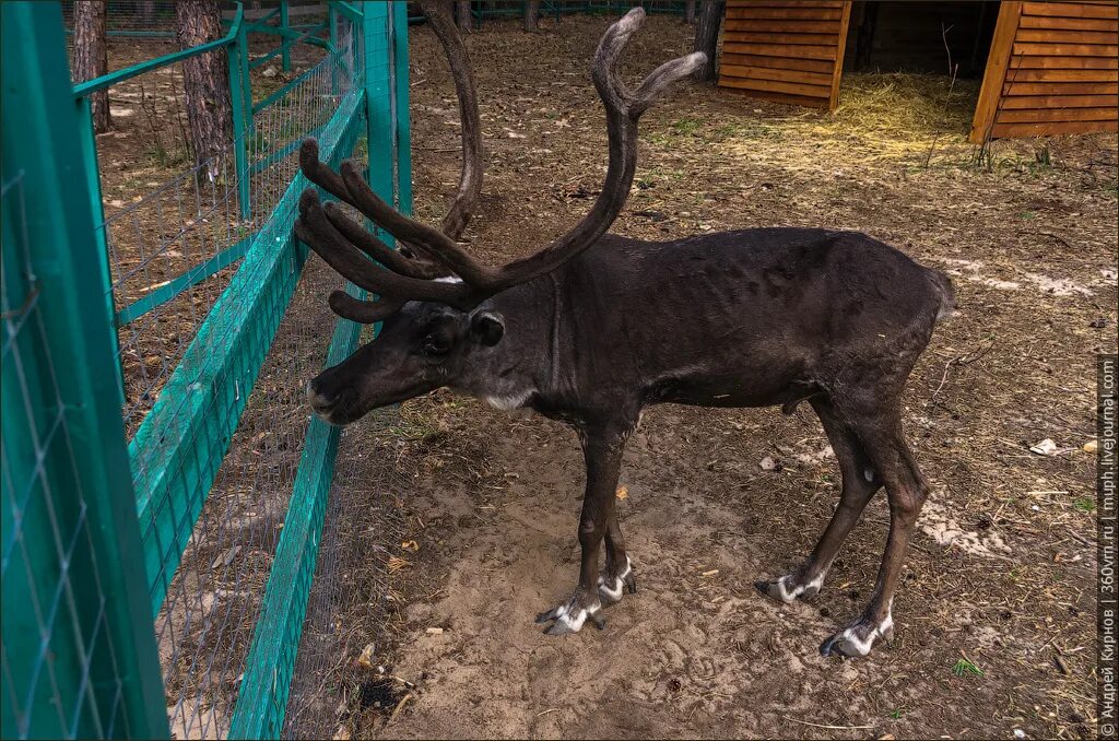
<svg viewBox="0 0 1119 741">
<path fill-rule="evenodd" d="M 718 84 L 833 110 L 845 67 L 928 72 L 949 56 L 982 77 L 972 141 L 1119 129 L 1117 0 L 728 0 Z"/>
</svg>

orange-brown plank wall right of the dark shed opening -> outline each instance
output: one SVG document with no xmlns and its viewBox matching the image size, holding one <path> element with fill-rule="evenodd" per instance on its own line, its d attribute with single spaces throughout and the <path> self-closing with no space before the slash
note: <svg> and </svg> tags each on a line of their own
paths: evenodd
<svg viewBox="0 0 1119 741">
<path fill-rule="evenodd" d="M 971 141 L 1119 130 L 1119 2 L 1004 2 Z"/>
</svg>

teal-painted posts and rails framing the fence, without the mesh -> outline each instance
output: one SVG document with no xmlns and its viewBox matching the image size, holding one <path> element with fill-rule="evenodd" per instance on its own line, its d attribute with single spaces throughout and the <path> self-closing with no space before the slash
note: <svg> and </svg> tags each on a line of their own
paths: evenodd
<svg viewBox="0 0 1119 741">
<path fill-rule="evenodd" d="M 284 6 L 286 2 L 281 8 Z M 131 76 L 215 48 L 227 48 L 236 132 L 234 149 L 244 152 L 245 147 L 237 142 L 250 135 L 253 114 L 270 103 L 262 101 L 254 106 L 250 90 L 245 37 L 258 28 L 244 22 L 238 3 L 237 15 L 224 38 L 82 83 L 67 96 L 69 77 L 60 6 L 3 2 L 0 13 L 4 41 L 2 182 L 6 194 L 9 184 L 19 185 L 20 197 L 27 199 L 22 213 L 15 212 L 9 198 L 3 201 L 3 326 L 8 329 L 3 338 L 4 407 L 21 403 L 31 416 L 43 405 L 39 398 L 29 397 L 26 384 L 17 387 L 10 383 L 9 366 L 13 364 L 8 362 L 9 346 L 23 349 L 21 357 L 28 368 L 40 375 L 51 368 L 35 366 L 31 360 L 41 365 L 44 358 L 53 359 L 59 397 L 57 411 L 75 443 L 70 445 L 74 458 L 70 468 L 78 486 L 57 486 L 45 490 L 44 496 L 54 508 L 73 506 L 87 517 L 96 555 L 93 566 L 100 569 L 97 579 L 87 579 L 77 584 L 79 589 L 72 589 L 83 570 L 93 566 L 68 562 L 65 554 L 54 561 L 18 557 L 26 551 L 17 552 L 16 545 L 28 538 L 57 540 L 57 534 L 51 533 L 58 527 L 51 518 L 35 517 L 35 513 L 22 509 L 17 489 L 26 480 L 39 477 L 46 481 L 64 476 L 65 471 L 56 473 L 49 450 L 38 443 L 19 444 L 19 425 L 25 420 L 6 411 L 2 648 L 3 679 L 9 688 L 2 693 L 0 705 L 3 737 L 166 738 L 168 709 L 151 629 L 152 616 L 160 609 L 205 495 L 217 475 L 217 466 L 237 428 L 283 315 L 282 308 L 299 280 L 307 248 L 290 237 L 290 224 L 280 224 L 275 218 L 269 229 L 262 227 L 256 232 L 250 244 L 229 245 L 228 248 L 237 251 L 227 255 L 231 263 L 242 261 L 237 273 L 191 340 L 160 401 L 131 443 L 125 444 L 121 421 L 122 376 L 115 350 L 116 328 L 129 316 L 116 310 L 109 288 L 88 96 Z M 333 34 L 336 17 L 361 30 L 364 71 L 377 72 L 363 74 L 360 88 L 340 104 L 323 126 L 330 133 L 323 134 L 320 142 L 322 156 L 337 165 L 347 153 L 337 143 L 354 135 L 367 139 L 369 152 L 391 152 L 392 157 L 369 157 L 369 181 L 382 197 L 408 213 L 412 194 L 406 3 L 330 2 L 329 13 L 329 28 L 281 32 L 280 53 L 286 57 L 291 45 L 309 39 L 333 48 L 338 43 Z M 329 39 L 314 36 L 323 30 L 329 31 Z M 361 123 L 366 130 L 355 131 L 355 124 Z M 238 187 L 244 210 L 248 194 L 241 190 L 247 190 L 252 163 L 238 154 L 236 166 L 238 184 L 244 184 Z M 280 221 L 294 213 L 300 193 L 309 185 L 301 173 L 289 184 L 274 209 Z M 12 232 L 11 225 L 17 223 L 25 234 Z M 185 290 L 194 278 L 197 275 L 182 276 L 170 293 Z M 276 306 L 281 307 L 279 312 L 264 310 Z M 31 313 L 41 317 L 46 331 L 21 335 L 18 327 Z M 82 330 L 76 331 L 76 327 Z M 358 325 L 337 321 L 328 363 L 336 363 L 352 350 L 358 330 Z M 219 336 L 220 346 L 207 344 L 207 332 Z M 223 413 L 203 413 L 206 404 L 191 401 L 196 397 L 207 404 L 219 404 Z M 163 400 L 171 401 L 161 407 Z M 173 414 L 160 411 L 175 405 L 175 400 L 180 406 L 186 405 L 185 415 L 181 409 Z M 337 428 L 317 419 L 308 428 L 239 685 L 229 729 L 233 737 L 271 738 L 283 725 L 338 437 Z M 205 454 L 199 454 L 198 444 L 206 448 Z M 162 468 L 147 471 L 138 479 L 137 456 L 152 445 L 167 450 L 160 462 Z M 201 497 L 197 496 L 199 491 Z M 81 500 L 75 503 L 74 497 Z M 160 519 L 159 512 L 168 513 L 167 517 Z M 162 537 L 142 535 L 145 513 L 162 523 L 159 525 Z M 16 578 L 17 566 L 41 570 L 38 579 L 44 584 L 56 591 L 73 591 L 76 597 L 68 599 L 76 632 L 84 635 L 79 623 L 91 616 L 103 621 L 107 628 L 104 632 L 115 650 L 114 662 L 94 657 L 84 645 L 53 644 L 57 631 L 51 632 L 50 625 L 44 626 L 41 610 L 30 609 L 35 594 L 29 593 L 26 580 Z M 23 640 L 25 634 L 38 635 L 40 640 Z M 20 639 L 15 639 L 16 636 Z M 60 707 L 57 683 L 46 690 L 39 686 L 39 667 L 45 663 L 51 665 L 51 676 L 63 676 L 66 682 L 81 685 L 70 692 L 77 693 L 74 707 Z M 31 677 L 26 690 L 9 682 L 23 676 Z M 103 692 L 104 687 L 116 690 Z M 83 692 L 87 695 L 84 702 Z M 120 724 L 115 724 L 117 715 Z"/>
</svg>

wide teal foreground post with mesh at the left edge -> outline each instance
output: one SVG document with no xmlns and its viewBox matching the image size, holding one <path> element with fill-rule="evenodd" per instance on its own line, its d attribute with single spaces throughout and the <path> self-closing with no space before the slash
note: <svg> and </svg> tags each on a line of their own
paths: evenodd
<svg viewBox="0 0 1119 741">
<path fill-rule="evenodd" d="M 168 738 L 63 29 L 0 2 L 0 735 Z"/>
</svg>

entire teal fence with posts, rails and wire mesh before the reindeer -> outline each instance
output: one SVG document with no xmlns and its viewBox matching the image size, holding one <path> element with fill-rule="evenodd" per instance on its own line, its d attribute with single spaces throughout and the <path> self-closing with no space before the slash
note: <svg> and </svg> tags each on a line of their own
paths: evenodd
<svg viewBox="0 0 1119 741">
<path fill-rule="evenodd" d="M 368 153 L 372 186 L 411 210 L 406 3 L 328 13 L 325 38 L 280 34 L 285 59 L 309 39 L 326 58 L 254 102 L 261 27 L 239 3 L 225 38 L 73 92 L 59 3 L 0 3 L 4 738 L 281 732 L 338 447 L 301 387 L 359 335 L 312 316 L 338 279 L 290 236 L 299 142 L 333 166 Z M 228 151 L 106 217 L 88 95 L 219 49 Z M 187 270 L 125 296 L 188 245 Z M 184 297 L 194 323 L 169 308 Z M 132 354 L 171 320 L 189 327 L 149 377 Z"/>
</svg>

